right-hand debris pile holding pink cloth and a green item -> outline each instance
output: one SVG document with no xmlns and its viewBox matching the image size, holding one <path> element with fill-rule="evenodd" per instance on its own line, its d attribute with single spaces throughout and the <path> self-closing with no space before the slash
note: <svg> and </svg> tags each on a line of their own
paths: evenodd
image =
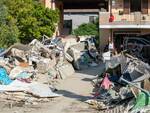
<svg viewBox="0 0 150 113">
<path fill-rule="evenodd" d="M 105 71 L 93 81 L 93 99 L 86 102 L 100 113 L 150 112 L 150 66 L 129 54 L 108 58 Z"/>
</svg>

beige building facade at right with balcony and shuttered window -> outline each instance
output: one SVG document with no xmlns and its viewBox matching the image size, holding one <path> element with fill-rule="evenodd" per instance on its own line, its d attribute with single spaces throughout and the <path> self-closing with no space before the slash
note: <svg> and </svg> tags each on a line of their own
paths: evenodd
<svg viewBox="0 0 150 113">
<path fill-rule="evenodd" d="M 99 12 L 102 49 L 109 38 L 121 45 L 124 37 L 150 33 L 150 0 L 108 0 L 108 8 Z"/>
</svg>

